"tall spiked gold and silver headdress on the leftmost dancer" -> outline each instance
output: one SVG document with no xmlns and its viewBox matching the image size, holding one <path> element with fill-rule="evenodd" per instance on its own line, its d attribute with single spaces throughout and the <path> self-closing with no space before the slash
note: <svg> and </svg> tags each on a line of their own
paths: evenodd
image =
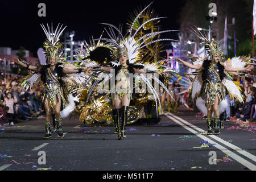
<svg viewBox="0 0 256 182">
<path fill-rule="evenodd" d="M 64 29 L 67 27 L 65 26 L 62 28 L 63 24 L 59 27 L 60 24 L 58 24 L 57 28 L 55 31 L 53 31 L 53 26 L 51 24 L 51 29 L 47 23 L 47 28 L 41 24 L 44 34 L 46 34 L 46 41 L 44 42 L 44 48 L 46 50 L 44 53 L 46 54 L 47 57 L 47 62 L 49 61 L 49 57 L 56 57 L 56 62 L 58 61 L 58 57 L 60 57 L 61 52 L 63 51 L 61 49 L 61 43 L 60 43 L 60 35 L 64 31 Z M 62 29 L 61 29 L 62 28 Z"/>
</svg>

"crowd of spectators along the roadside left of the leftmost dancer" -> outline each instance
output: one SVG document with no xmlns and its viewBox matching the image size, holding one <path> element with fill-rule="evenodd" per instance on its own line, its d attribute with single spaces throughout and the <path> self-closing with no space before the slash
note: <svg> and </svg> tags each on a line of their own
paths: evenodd
<svg viewBox="0 0 256 182">
<path fill-rule="evenodd" d="M 0 130 L 3 125 L 43 118 L 42 90 L 22 90 L 23 77 L 13 74 L 0 75 Z"/>
</svg>

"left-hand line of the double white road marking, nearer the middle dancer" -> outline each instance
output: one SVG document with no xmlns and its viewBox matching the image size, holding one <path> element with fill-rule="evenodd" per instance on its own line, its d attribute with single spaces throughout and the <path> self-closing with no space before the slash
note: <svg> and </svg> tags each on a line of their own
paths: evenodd
<svg viewBox="0 0 256 182">
<path fill-rule="evenodd" d="M 180 126 L 184 127 L 184 129 L 190 131 L 191 133 L 197 135 L 197 137 L 200 137 L 203 140 L 208 140 L 209 143 L 216 143 L 213 140 L 205 137 L 202 134 L 197 134 L 197 131 L 191 129 L 190 127 L 188 127 L 187 125 L 185 125 L 184 123 L 177 121 L 176 118 L 171 117 L 171 115 L 168 114 L 164 114 L 166 115 L 166 117 L 170 118 L 172 121 L 178 123 Z M 221 146 L 220 144 L 216 143 L 216 145 L 213 145 L 214 147 L 218 148 L 218 150 L 221 150 L 222 152 L 224 152 L 225 154 L 229 154 L 230 158 L 233 158 L 234 160 L 236 160 L 237 162 L 241 163 L 243 166 L 249 168 L 252 171 L 256 171 L 256 166 L 250 162 L 248 162 L 247 160 L 241 158 L 240 156 L 238 156 L 237 154 L 234 154 L 234 152 L 228 150 L 227 148 Z"/>
</svg>

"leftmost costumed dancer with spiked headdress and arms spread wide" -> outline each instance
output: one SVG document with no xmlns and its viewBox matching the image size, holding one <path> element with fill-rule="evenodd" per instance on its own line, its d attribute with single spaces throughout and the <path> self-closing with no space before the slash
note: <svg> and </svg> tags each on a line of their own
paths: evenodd
<svg viewBox="0 0 256 182">
<path fill-rule="evenodd" d="M 33 66 L 18 58 L 14 61 L 34 71 L 34 73 L 25 78 L 22 84 L 25 90 L 29 90 L 34 86 L 42 87 L 44 90 L 43 103 L 46 110 L 46 135 L 44 135 L 44 138 L 51 138 L 52 136 L 51 109 L 55 111 L 55 121 L 53 122 L 56 123 L 57 135 L 59 138 L 63 138 L 62 118 L 67 117 L 75 106 L 73 97 L 69 94 L 68 86 L 85 83 L 88 78 L 86 72 L 89 71 L 89 68 L 78 68 L 72 64 L 61 63 L 62 52 L 59 37 L 65 29 L 65 27 L 61 29 L 63 25 L 59 27 L 58 24 L 55 31 L 53 31 L 53 27 L 50 30 L 48 24 L 48 29 L 43 24 L 41 26 L 47 36 L 44 42 L 47 64 Z M 65 108 L 62 111 L 61 105 Z"/>
</svg>

